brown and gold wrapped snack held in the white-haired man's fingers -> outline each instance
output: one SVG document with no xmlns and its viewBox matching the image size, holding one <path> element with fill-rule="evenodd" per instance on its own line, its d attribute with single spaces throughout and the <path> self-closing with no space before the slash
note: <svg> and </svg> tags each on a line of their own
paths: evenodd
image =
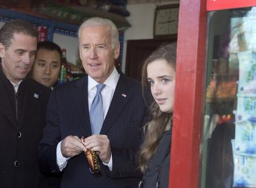
<svg viewBox="0 0 256 188">
<path fill-rule="evenodd" d="M 86 137 L 82 136 L 81 142 L 82 144 L 84 144 L 84 146 L 86 145 L 85 140 Z M 90 172 L 94 175 L 98 174 L 100 172 L 100 163 L 98 162 L 98 156 L 96 154 L 96 151 L 92 151 L 88 148 L 84 153 L 86 154 L 86 158 L 90 167 Z"/>
</svg>

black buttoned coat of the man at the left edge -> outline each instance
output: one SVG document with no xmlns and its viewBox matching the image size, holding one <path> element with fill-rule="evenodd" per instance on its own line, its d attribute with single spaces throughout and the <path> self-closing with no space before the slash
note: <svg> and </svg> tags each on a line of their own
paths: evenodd
<svg viewBox="0 0 256 188">
<path fill-rule="evenodd" d="M 0 63 L 0 187 L 38 187 L 38 143 L 50 92 L 24 79 L 15 95 Z"/>
</svg>

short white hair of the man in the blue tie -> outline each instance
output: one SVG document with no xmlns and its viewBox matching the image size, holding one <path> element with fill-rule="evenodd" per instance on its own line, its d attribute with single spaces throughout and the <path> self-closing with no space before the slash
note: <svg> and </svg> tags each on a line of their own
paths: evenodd
<svg viewBox="0 0 256 188">
<path fill-rule="evenodd" d="M 117 26 L 115 26 L 115 23 L 113 23 L 113 21 L 111 21 L 110 19 L 105 19 L 102 17 L 91 17 L 89 19 L 86 19 L 86 21 L 84 21 L 84 23 L 82 23 L 82 25 L 79 27 L 79 39 L 82 28 L 93 26 L 106 26 L 107 31 L 110 31 L 111 33 L 112 48 L 115 48 L 115 46 L 119 43 L 119 32 L 117 30 Z"/>
</svg>

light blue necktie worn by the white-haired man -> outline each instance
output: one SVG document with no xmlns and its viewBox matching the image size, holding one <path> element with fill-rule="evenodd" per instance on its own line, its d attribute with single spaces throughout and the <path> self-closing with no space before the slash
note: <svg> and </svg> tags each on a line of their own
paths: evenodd
<svg viewBox="0 0 256 188">
<path fill-rule="evenodd" d="M 91 122 L 91 128 L 92 128 L 92 134 L 100 134 L 100 130 L 102 128 L 102 124 L 104 121 L 104 113 L 103 113 L 103 101 L 102 101 L 102 95 L 101 90 L 106 85 L 99 83 L 96 85 L 97 92 L 94 97 L 94 100 L 92 101 L 92 105 L 90 108 L 90 122 Z"/>
</svg>

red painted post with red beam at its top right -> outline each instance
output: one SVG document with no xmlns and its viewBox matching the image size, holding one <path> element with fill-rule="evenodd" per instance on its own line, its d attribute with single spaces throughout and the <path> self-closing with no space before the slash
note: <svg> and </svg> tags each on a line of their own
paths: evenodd
<svg viewBox="0 0 256 188">
<path fill-rule="evenodd" d="M 256 5 L 256 0 L 180 0 L 169 187 L 201 187 L 206 9 L 212 11 L 252 5 Z"/>
</svg>

